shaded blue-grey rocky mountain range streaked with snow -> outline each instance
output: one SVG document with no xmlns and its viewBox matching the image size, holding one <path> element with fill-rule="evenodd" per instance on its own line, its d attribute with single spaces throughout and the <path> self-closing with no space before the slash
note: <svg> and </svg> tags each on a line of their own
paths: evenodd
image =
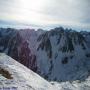
<svg viewBox="0 0 90 90">
<path fill-rule="evenodd" d="M 82 79 L 90 71 L 89 32 L 1 28 L 0 51 L 48 80 Z"/>
</svg>

